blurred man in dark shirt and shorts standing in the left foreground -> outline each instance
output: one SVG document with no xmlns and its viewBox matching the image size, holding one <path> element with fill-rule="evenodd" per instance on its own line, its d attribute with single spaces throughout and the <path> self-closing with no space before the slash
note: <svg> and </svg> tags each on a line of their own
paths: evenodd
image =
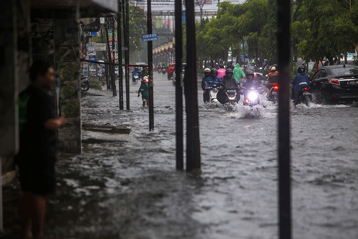
<svg viewBox="0 0 358 239">
<path fill-rule="evenodd" d="M 55 72 L 48 62 L 35 61 L 31 85 L 18 97 L 19 153 L 15 156 L 23 191 L 19 200 L 21 237 L 43 238 L 47 196 L 55 191 L 56 130 L 66 120 L 56 118 Z"/>
</svg>

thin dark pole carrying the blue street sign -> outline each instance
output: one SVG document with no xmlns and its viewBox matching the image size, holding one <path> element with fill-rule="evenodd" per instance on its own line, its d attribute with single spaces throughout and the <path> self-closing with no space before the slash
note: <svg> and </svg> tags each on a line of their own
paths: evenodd
<svg viewBox="0 0 358 239">
<path fill-rule="evenodd" d="M 150 0 L 147 0 L 147 34 L 152 34 L 152 13 Z M 154 130 L 154 103 L 153 103 L 153 41 L 148 41 L 148 72 L 149 72 L 149 131 Z"/>
</svg>

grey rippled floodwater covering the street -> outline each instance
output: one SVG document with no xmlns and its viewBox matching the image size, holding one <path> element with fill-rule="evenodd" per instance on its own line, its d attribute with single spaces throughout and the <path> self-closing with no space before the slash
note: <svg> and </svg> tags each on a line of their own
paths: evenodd
<svg viewBox="0 0 358 239">
<path fill-rule="evenodd" d="M 254 107 L 243 106 L 242 99 L 234 106 L 205 105 L 199 86 L 202 173 L 191 175 L 175 170 L 171 81 L 154 72 L 152 132 L 138 89 L 130 85 L 130 110 L 124 111 L 110 90 L 83 94 L 83 123 L 129 126 L 131 132 L 84 131 L 83 154 L 60 155 L 47 234 L 278 238 L 277 105 L 263 95 Z M 355 106 L 301 104 L 290 110 L 293 238 L 358 238 Z"/>
</svg>

